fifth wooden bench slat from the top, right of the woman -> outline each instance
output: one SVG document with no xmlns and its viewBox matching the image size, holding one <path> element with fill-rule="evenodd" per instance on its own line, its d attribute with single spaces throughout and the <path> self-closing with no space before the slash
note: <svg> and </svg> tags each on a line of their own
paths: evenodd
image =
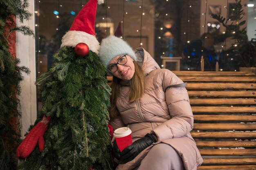
<svg viewBox="0 0 256 170">
<path fill-rule="evenodd" d="M 194 99 L 191 98 L 190 104 L 256 104 L 256 99 Z"/>
</svg>

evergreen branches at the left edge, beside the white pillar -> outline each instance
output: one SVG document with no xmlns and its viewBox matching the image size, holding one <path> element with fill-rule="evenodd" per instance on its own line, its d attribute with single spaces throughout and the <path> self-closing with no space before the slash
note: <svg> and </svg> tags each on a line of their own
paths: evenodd
<svg viewBox="0 0 256 170">
<path fill-rule="evenodd" d="M 16 58 L 16 31 L 24 35 L 34 35 L 27 26 L 16 26 L 16 18 L 20 22 L 29 20 L 31 13 L 27 11 L 26 0 L 0 1 L 0 170 L 15 170 L 17 160 L 16 148 L 20 142 L 18 129 L 17 95 L 20 94 L 22 73 L 29 74 L 29 69 L 19 66 Z"/>
</svg>

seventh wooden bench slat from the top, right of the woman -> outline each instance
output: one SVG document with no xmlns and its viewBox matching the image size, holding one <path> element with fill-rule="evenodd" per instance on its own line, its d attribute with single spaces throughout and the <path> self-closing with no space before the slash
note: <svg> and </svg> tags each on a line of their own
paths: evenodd
<svg viewBox="0 0 256 170">
<path fill-rule="evenodd" d="M 194 115 L 195 121 L 256 121 L 256 115 Z"/>
</svg>

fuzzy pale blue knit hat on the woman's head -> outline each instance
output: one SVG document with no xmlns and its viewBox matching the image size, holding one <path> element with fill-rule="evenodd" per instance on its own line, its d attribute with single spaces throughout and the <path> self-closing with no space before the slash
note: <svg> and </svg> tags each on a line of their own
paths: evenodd
<svg viewBox="0 0 256 170">
<path fill-rule="evenodd" d="M 135 61 L 137 57 L 127 42 L 113 35 L 105 38 L 101 42 L 99 49 L 99 58 L 104 66 L 108 66 L 109 61 L 117 55 L 128 54 Z"/>
</svg>

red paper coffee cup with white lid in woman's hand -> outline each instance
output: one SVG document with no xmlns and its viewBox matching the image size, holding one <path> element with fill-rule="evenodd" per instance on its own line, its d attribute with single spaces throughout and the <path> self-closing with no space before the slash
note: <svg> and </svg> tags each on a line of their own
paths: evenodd
<svg viewBox="0 0 256 170">
<path fill-rule="evenodd" d="M 114 131 L 114 137 L 121 152 L 124 148 L 132 144 L 132 131 L 128 127 L 116 129 Z"/>
</svg>

